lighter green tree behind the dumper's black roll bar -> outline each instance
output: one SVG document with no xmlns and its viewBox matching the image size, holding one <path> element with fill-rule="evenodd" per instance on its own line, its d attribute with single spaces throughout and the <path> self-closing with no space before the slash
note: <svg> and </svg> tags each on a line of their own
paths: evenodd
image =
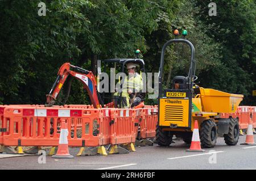
<svg viewBox="0 0 256 181">
<path fill-rule="evenodd" d="M 159 18 L 158 30 L 151 33 L 147 39 L 149 50 L 144 59 L 151 62 L 146 64 L 149 66 L 149 70 L 158 71 L 160 50 L 166 41 L 175 38 L 172 32 L 176 28 L 180 34 L 182 30 L 187 30 L 188 36 L 185 39 L 191 41 L 196 49 L 196 74 L 220 65 L 221 46 L 208 36 L 208 27 L 195 16 L 198 12 L 199 8 L 196 7 L 195 2 L 184 1 L 175 12 L 176 17 L 174 19 L 164 15 Z M 180 35 L 178 38 L 183 37 Z M 167 48 L 164 58 L 164 87 L 170 87 L 171 79 L 174 76 L 188 75 L 190 60 L 191 49 L 188 45 L 172 44 Z"/>
</svg>

